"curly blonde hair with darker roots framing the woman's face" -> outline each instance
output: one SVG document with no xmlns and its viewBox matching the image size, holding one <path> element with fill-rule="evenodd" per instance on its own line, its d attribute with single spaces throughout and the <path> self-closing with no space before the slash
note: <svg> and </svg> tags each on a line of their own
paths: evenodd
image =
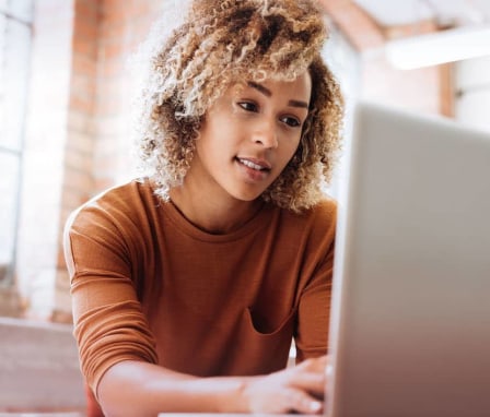
<svg viewBox="0 0 490 417">
<path fill-rule="evenodd" d="M 143 88 L 139 154 L 155 192 L 168 200 L 182 183 L 203 117 L 228 87 L 291 81 L 308 71 L 312 95 L 300 145 L 261 198 L 294 212 L 317 203 L 331 179 L 343 118 L 339 85 L 320 56 L 326 37 L 312 0 L 192 1 L 184 23 L 153 51 Z"/>
</svg>

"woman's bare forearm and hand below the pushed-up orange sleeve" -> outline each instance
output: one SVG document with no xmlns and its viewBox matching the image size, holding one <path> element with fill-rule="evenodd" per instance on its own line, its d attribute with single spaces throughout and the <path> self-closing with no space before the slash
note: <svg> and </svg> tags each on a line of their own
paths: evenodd
<svg viewBox="0 0 490 417">
<path fill-rule="evenodd" d="M 122 361 L 101 379 L 107 416 L 173 413 L 322 412 L 326 358 L 261 377 L 195 378 L 152 364 Z"/>
</svg>

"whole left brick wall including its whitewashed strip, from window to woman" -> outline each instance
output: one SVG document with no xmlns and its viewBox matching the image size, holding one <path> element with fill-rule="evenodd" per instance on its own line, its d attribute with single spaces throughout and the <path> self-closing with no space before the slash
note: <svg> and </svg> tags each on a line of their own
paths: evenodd
<svg viewBox="0 0 490 417">
<path fill-rule="evenodd" d="M 63 225 L 133 165 L 127 61 L 164 3 L 36 1 L 15 274 L 28 318 L 71 320 Z"/>
</svg>

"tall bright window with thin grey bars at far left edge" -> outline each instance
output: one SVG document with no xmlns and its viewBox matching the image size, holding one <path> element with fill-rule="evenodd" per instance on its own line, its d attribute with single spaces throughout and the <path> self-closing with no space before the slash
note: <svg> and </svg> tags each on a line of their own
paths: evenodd
<svg viewBox="0 0 490 417">
<path fill-rule="evenodd" d="M 13 282 L 33 0 L 0 0 L 0 286 Z"/>
</svg>

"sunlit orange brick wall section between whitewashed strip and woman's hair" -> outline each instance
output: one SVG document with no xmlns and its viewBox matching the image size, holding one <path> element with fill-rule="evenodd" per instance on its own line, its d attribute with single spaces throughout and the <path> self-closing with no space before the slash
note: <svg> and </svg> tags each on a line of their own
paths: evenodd
<svg viewBox="0 0 490 417">
<path fill-rule="evenodd" d="M 129 178 L 129 58 L 159 16 L 163 1 L 75 0 L 68 139 L 60 225 L 94 194 Z M 70 320 L 69 278 L 59 230 L 54 320 Z"/>
</svg>

